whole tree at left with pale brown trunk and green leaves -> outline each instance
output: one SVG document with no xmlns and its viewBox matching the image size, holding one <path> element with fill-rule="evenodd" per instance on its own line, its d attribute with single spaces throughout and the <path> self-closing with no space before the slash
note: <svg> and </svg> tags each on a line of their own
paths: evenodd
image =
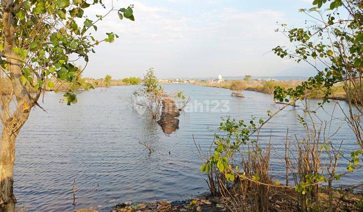
<svg viewBox="0 0 363 212">
<path fill-rule="evenodd" d="M 72 83 L 77 67 L 72 58 L 88 62 L 88 54 L 101 42 L 112 43 L 118 36 L 106 33 L 97 40 L 92 36 L 95 25 L 112 11 L 118 17 L 134 20 L 133 6 L 115 10 L 111 8 L 96 20 L 83 17 L 84 10 L 94 5 L 104 5 L 98 0 L 89 4 L 84 0 L 14 1 L 2 0 L 0 17 L 1 71 L 10 80 L 11 89 L 0 95 L 3 124 L 0 150 L 0 210 L 14 211 L 16 198 L 13 193 L 13 166 L 15 140 L 28 120 L 31 109 L 38 104 L 42 91 L 56 91 L 64 81 Z M 53 82 L 55 79 L 55 83 Z M 10 109 L 15 96 L 16 108 Z M 75 103 L 74 89 L 64 94 L 67 104 Z"/>
</svg>

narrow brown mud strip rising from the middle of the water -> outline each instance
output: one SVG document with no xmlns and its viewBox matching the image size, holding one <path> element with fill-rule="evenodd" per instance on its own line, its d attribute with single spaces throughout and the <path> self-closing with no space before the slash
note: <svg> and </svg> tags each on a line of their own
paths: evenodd
<svg viewBox="0 0 363 212">
<path fill-rule="evenodd" d="M 164 99 L 160 120 L 157 123 L 161 126 L 164 133 L 170 134 L 179 129 L 179 120 L 175 117 L 180 116 L 176 104 L 171 99 Z"/>
</svg>

